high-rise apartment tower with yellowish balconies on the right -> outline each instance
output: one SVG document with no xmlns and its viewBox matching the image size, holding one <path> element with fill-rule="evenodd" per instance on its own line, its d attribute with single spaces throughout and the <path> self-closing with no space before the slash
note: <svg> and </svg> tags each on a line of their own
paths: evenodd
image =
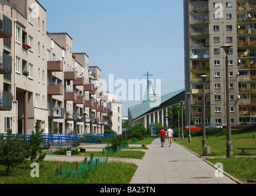
<svg viewBox="0 0 256 196">
<path fill-rule="evenodd" d="M 198 126 L 227 124 L 225 52 L 228 53 L 231 123 L 256 121 L 256 1 L 184 0 L 185 92 Z M 203 111 L 203 79 L 206 110 Z M 187 110 L 188 111 L 188 110 Z M 188 124 L 188 113 L 186 116 Z"/>
</svg>

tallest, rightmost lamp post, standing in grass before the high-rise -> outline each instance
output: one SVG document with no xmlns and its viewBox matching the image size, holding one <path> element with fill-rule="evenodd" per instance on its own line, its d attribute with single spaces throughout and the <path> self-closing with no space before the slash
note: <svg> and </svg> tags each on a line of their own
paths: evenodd
<svg viewBox="0 0 256 196">
<path fill-rule="evenodd" d="M 227 107 L 227 157 L 233 156 L 233 144 L 231 141 L 231 127 L 230 127 L 230 88 L 229 88 L 229 71 L 228 71 L 228 51 L 231 48 L 231 45 L 223 45 L 220 48 L 226 53 L 226 107 Z"/>
</svg>

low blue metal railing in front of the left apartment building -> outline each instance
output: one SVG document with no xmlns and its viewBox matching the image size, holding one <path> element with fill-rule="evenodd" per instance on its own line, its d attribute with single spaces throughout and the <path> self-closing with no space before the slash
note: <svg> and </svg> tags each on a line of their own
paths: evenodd
<svg viewBox="0 0 256 196">
<path fill-rule="evenodd" d="M 3 135 L 4 138 L 7 137 L 7 134 Z M 20 135 L 24 136 L 26 140 L 29 141 L 29 135 Z M 115 134 L 95 134 L 95 135 L 70 135 L 70 134 L 42 134 L 42 140 L 44 146 L 56 146 L 56 147 L 72 147 L 74 143 L 99 143 L 99 140 L 102 138 L 108 140 L 112 137 L 115 137 Z"/>
</svg>

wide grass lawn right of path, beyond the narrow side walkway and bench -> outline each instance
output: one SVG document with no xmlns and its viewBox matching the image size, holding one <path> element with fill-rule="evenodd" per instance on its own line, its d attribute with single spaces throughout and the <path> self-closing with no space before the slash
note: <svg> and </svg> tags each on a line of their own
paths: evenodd
<svg viewBox="0 0 256 196">
<path fill-rule="evenodd" d="M 233 155 L 238 156 L 241 155 L 241 150 L 237 148 L 256 148 L 256 138 L 253 138 L 256 135 L 256 130 L 252 129 L 247 132 L 239 133 L 233 132 L 231 135 L 232 143 L 233 143 Z M 188 139 L 177 138 L 176 143 L 179 143 L 185 148 L 190 149 L 194 153 L 199 156 L 203 155 L 202 150 L 202 139 L 203 137 L 192 137 L 192 142 L 188 143 Z M 226 143 L 227 138 L 225 135 L 206 135 L 206 146 L 211 147 L 211 154 L 209 156 L 225 156 L 226 155 Z M 248 150 L 245 151 L 246 155 L 256 155 L 256 150 Z"/>
</svg>

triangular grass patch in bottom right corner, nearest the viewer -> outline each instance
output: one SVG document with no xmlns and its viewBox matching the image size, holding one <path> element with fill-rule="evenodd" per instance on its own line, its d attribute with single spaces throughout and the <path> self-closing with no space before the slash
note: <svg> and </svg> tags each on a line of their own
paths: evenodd
<svg viewBox="0 0 256 196">
<path fill-rule="evenodd" d="M 223 164 L 223 170 L 239 179 L 243 183 L 247 183 L 248 179 L 256 179 L 256 158 L 252 157 L 239 157 L 239 158 L 219 158 L 219 159 L 206 159 L 212 164 L 220 162 Z"/>
</svg>

